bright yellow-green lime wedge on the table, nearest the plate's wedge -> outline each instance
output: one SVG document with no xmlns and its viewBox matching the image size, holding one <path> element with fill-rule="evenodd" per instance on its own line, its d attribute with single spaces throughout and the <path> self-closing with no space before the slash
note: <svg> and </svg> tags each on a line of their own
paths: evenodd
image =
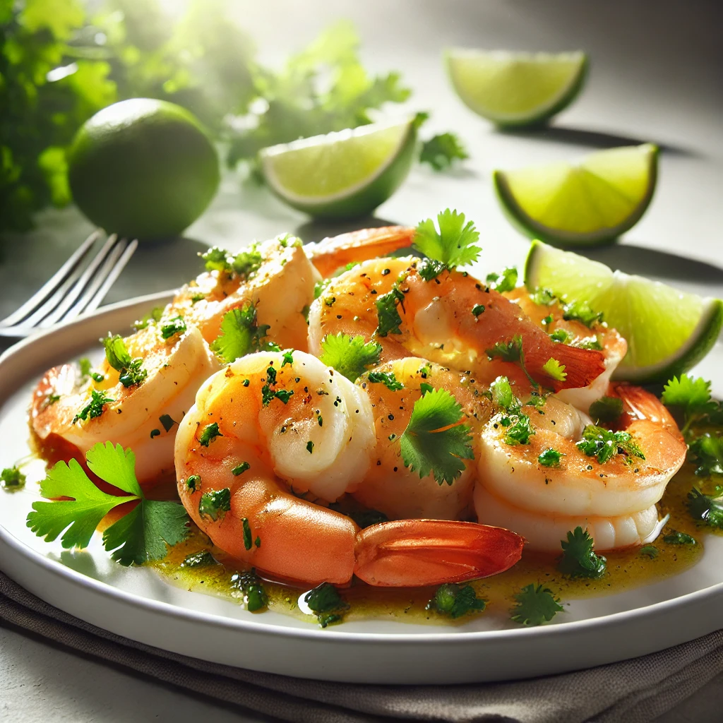
<svg viewBox="0 0 723 723">
<path fill-rule="evenodd" d="M 658 149 L 644 145 L 592 153 L 580 163 L 495 171 L 497 197 L 531 239 L 597 246 L 628 231 L 645 213 L 658 176 Z"/>
</svg>

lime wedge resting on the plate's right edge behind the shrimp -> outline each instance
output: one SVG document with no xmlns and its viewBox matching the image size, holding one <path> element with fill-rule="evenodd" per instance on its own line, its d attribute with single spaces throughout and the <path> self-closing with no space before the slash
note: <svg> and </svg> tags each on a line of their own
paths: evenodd
<svg viewBox="0 0 723 723">
<path fill-rule="evenodd" d="M 716 342 L 723 301 L 701 299 L 641 276 L 533 241 L 525 285 L 548 288 L 565 302 L 587 301 L 628 341 L 615 379 L 667 382 L 695 366 Z"/>
</svg>

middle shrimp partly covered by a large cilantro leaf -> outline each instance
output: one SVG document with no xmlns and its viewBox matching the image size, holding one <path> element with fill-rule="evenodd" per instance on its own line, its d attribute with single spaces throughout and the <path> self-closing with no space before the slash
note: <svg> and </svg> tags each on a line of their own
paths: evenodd
<svg viewBox="0 0 723 723">
<path fill-rule="evenodd" d="M 383 382 L 370 381 L 369 374 L 356 382 L 367 392 L 374 415 L 376 445 L 372 466 L 364 475 L 354 497 L 368 508 L 380 510 L 390 519 L 472 518 L 472 489 L 476 481 L 474 460 L 464 461 L 465 469 L 452 484 L 437 484 L 432 474 L 420 479 L 419 472 L 404 466 L 398 442 L 411 417 L 414 402 L 422 395 L 421 386 L 445 389 L 461 405 L 476 448 L 482 425 L 492 414 L 492 403 L 474 378 L 445 369 L 427 359 L 408 357 L 382 364 L 374 375 L 393 374 L 401 389 L 389 389 Z M 397 440 L 397 441 L 390 441 Z"/>
</svg>

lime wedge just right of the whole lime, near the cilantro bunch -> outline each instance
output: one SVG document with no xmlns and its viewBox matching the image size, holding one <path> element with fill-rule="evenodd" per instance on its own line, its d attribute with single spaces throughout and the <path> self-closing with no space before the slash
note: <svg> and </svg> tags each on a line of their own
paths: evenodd
<svg viewBox="0 0 723 723">
<path fill-rule="evenodd" d="M 365 215 L 401 185 L 414 158 L 414 123 L 369 124 L 273 145 L 261 153 L 270 188 L 316 218 Z"/>
</svg>

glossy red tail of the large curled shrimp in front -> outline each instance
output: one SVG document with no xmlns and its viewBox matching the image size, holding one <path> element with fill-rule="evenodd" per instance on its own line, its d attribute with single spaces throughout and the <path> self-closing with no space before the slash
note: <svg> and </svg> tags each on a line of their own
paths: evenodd
<svg viewBox="0 0 723 723">
<path fill-rule="evenodd" d="M 357 534 L 354 573 L 380 587 L 458 583 L 508 570 L 524 542 L 514 532 L 476 522 L 382 522 Z"/>
</svg>

